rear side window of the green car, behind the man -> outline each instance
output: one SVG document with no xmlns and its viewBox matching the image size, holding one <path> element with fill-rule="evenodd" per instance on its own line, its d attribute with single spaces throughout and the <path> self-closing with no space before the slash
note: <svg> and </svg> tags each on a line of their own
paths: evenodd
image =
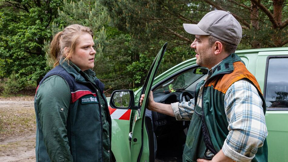
<svg viewBox="0 0 288 162">
<path fill-rule="evenodd" d="M 269 59 L 266 106 L 269 108 L 288 107 L 288 58 Z"/>
</svg>

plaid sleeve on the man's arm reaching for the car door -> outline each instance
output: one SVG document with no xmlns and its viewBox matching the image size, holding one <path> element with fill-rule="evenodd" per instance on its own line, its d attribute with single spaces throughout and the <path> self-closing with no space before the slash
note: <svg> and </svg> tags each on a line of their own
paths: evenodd
<svg viewBox="0 0 288 162">
<path fill-rule="evenodd" d="M 171 103 L 176 120 L 191 120 L 192 115 L 194 113 L 194 107 L 195 107 L 194 105 L 195 105 L 194 98 L 188 102 L 183 101 L 182 103 L 179 102 Z"/>
</svg>

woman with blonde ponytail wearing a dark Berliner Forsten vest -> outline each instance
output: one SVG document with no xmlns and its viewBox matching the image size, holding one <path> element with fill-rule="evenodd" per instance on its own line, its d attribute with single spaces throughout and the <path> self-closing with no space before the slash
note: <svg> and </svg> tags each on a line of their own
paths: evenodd
<svg viewBox="0 0 288 162">
<path fill-rule="evenodd" d="M 54 35 L 54 68 L 35 95 L 36 161 L 111 161 L 111 118 L 95 77 L 93 32 L 67 26 Z"/>
</svg>

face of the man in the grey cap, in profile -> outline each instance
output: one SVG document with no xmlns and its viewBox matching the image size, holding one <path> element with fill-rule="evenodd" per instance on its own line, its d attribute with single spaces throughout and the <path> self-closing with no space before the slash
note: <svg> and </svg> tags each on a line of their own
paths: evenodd
<svg viewBox="0 0 288 162">
<path fill-rule="evenodd" d="M 208 35 L 195 35 L 195 40 L 191 44 L 191 48 L 196 52 L 196 63 L 200 66 L 211 69 L 215 64 L 215 57 L 212 47 L 209 46 Z"/>
</svg>

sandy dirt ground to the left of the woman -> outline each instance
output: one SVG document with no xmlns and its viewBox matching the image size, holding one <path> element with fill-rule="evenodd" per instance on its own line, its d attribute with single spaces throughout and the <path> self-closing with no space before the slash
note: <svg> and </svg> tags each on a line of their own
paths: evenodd
<svg viewBox="0 0 288 162">
<path fill-rule="evenodd" d="M 35 161 L 34 96 L 0 97 L 0 161 Z"/>
</svg>

